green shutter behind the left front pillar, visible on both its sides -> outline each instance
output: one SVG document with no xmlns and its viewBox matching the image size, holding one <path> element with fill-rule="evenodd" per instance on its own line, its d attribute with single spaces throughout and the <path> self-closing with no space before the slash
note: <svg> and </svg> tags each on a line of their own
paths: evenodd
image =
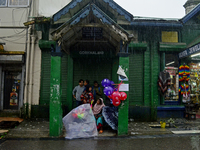
<svg viewBox="0 0 200 150">
<path fill-rule="evenodd" d="M 61 101 L 63 104 L 67 103 L 67 54 L 63 54 L 61 58 L 62 78 Z M 51 52 L 42 51 L 41 64 L 41 89 L 40 89 L 40 105 L 48 105 L 50 100 L 50 76 L 51 76 Z"/>
</svg>

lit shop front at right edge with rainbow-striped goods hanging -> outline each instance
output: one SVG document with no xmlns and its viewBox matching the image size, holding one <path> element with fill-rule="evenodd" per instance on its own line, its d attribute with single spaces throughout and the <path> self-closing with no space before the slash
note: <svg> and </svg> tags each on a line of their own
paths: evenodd
<svg viewBox="0 0 200 150">
<path fill-rule="evenodd" d="M 185 49 L 178 56 L 181 62 L 179 68 L 180 100 L 185 105 L 184 117 L 196 119 L 196 113 L 199 110 L 200 44 Z M 182 72 L 183 75 L 181 75 Z"/>
</svg>

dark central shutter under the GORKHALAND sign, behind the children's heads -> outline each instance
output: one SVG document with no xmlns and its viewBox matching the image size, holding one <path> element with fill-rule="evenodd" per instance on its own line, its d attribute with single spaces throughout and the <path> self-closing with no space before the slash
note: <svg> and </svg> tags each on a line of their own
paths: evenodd
<svg viewBox="0 0 200 150">
<path fill-rule="evenodd" d="M 88 79 L 93 86 L 94 80 L 100 84 L 104 78 L 112 77 L 112 59 L 110 58 L 74 58 L 74 86 L 80 79 Z"/>
</svg>

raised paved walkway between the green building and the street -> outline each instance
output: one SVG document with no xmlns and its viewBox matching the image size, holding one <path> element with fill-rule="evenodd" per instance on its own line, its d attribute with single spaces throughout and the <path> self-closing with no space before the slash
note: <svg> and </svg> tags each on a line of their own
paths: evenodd
<svg viewBox="0 0 200 150">
<path fill-rule="evenodd" d="M 129 122 L 129 135 L 128 136 L 141 136 L 141 135 L 163 135 L 173 134 L 172 131 L 192 131 L 200 130 L 200 119 L 186 120 L 174 119 L 174 127 L 165 129 L 160 128 L 158 122 Z M 151 127 L 151 126 L 155 127 Z M 5 135 L 5 134 L 2 134 Z M 117 132 L 107 128 L 99 137 L 115 137 Z M 4 136 L 6 138 L 49 138 L 49 121 L 46 119 L 31 119 L 24 120 L 18 126 L 10 129 Z M 65 137 L 65 129 L 61 138 Z"/>
</svg>

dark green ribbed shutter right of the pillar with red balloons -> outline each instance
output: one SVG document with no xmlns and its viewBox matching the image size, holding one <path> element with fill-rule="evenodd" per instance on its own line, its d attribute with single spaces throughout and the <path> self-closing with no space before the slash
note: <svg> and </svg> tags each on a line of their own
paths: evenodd
<svg viewBox="0 0 200 150">
<path fill-rule="evenodd" d="M 144 103 L 144 53 L 132 51 L 129 56 L 130 106 Z"/>
</svg>

